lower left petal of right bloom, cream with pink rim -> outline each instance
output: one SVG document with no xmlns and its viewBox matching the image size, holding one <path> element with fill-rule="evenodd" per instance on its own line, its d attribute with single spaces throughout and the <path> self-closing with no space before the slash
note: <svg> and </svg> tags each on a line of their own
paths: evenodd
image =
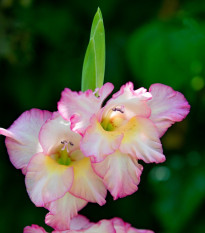
<svg viewBox="0 0 205 233">
<path fill-rule="evenodd" d="M 91 126 L 86 130 L 80 147 L 83 154 L 91 157 L 93 162 L 101 162 L 107 155 L 114 153 L 122 141 L 123 134 L 105 131 L 95 116 L 91 119 Z"/>
</svg>

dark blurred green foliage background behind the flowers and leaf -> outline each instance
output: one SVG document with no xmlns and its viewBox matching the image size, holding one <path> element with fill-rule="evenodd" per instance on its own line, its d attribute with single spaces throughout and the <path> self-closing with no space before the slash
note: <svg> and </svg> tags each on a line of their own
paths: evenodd
<svg viewBox="0 0 205 233">
<path fill-rule="evenodd" d="M 105 81 L 115 90 L 160 82 L 181 91 L 191 112 L 163 136 L 167 161 L 144 164 L 132 196 L 81 213 L 118 216 L 156 233 L 205 232 L 205 1 L 110 0 L 0 2 L 0 126 L 25 110 L 56 110 L 65 87 L 80 90 L 83 58 L 97 7 L 106 32 Z M 46 210 L 28 198 L 24 176 L 0 137 L 0 231 L 45 226 Z M 46 227 L 49 230 L 49 227 Z"/>
</svg>

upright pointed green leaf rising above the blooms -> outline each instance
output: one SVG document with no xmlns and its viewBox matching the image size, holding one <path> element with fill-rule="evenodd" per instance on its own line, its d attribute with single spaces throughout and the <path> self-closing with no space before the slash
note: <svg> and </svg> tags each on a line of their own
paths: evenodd
<svg viewBox="0 0 205 233">
<path fill-rule="evenodd" d="M 90 41 L 83 63 L 81 90 L 95 90 L 103 85 L 105 72 L 105 31 L 100 9 L 93 19 Z"/>
</svg>

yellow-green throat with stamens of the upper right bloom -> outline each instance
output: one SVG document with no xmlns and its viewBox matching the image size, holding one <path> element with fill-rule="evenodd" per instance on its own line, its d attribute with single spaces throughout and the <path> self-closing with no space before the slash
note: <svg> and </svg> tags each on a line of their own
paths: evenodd
<svg viewBox="0 0 205 233">
<path fill-rule="evenodd" d="M 106 131 L 114 131 L 126 121 L 124 106 L 116 106 L 110 109 L 102 118 L 101 126 Z"/>
</svg>

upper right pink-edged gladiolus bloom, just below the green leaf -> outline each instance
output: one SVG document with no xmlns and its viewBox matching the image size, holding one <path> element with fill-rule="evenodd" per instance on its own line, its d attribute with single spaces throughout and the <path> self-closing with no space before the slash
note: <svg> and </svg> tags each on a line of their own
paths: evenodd
<svg viewBox="0 0 205 233">
<path fill-rule="evenodd" d="M 91 90 L 66 88 L 58 103 L 59 113 L 82 135 L 80 147 L 90 157 L 114 199 L 137 190 L 142 166 L 165 161 L 160 137 L 175 122 L 183 120 L 190 106 L 171 87 L 153 84 L 149 92 L 123 85 L 103 106 L 113 85 L 106 83 L 96 96 Z"/>
</svg>

